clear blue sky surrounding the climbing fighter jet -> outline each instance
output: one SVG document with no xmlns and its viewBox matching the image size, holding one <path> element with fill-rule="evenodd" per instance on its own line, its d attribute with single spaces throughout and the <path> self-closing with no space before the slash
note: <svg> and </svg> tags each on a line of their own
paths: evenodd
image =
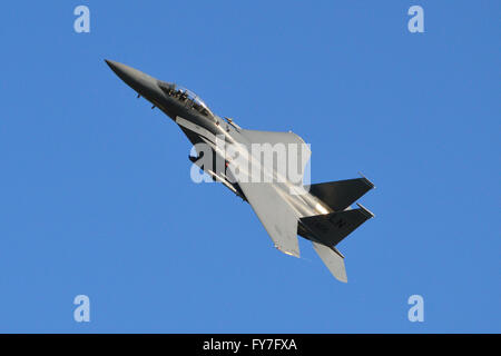
<svg viewBox="0 0 501 356">
<path fill-rule="evenodd" d="M 73 9 L 90 9 L 90 33 Z M 424 9 L 424 33 L 407 9 Z M 2 3 L 0 332 L 501 332 L 499 1 Z M 375 212 L 338 246 L 272 246 L 195 185 L 180 130 L 105 65 L 312 145 L 312 181 Z M 91 322 L 72 318 L 90 297 Z M 424 323 L 407 298 L 424 297 Z"/>
</svg>

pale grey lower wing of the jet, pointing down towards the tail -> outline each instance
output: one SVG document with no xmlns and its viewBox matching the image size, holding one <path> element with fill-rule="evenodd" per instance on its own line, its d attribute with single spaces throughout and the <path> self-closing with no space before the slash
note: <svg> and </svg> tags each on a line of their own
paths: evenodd
<svg viewBox="0 0 501 356">
<path fill-rule="evenodd" d="M 275 187 L 265 182 L 239 182 L 238 185 L 275 247 L 284 254 L 299 257 L 296 215 Z"/>
</svg>

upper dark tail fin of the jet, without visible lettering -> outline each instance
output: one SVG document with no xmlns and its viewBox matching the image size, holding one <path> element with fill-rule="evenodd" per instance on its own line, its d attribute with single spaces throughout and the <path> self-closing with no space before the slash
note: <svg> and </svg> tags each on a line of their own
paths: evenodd
<svg viewBox="0 0 501 356">
<path fill-rule="evenodd" d="M 305 187 L 306 190 L 308 187 Z M 342 211 L 374 188 L 365 177 L 320 182 L 310 186 L 310 192 L 328 205 L 334 211 Z"/>
</svg>

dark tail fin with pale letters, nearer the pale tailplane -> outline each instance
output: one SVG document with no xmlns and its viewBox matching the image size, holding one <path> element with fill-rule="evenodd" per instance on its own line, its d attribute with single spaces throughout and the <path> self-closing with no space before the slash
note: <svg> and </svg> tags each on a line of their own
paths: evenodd
<svg viewBox="0 0 501 356">
<path fill-rule="evenodd" d="M 301 222 L 324 245 L 336 246 L 354 229 L 374 215 L 358 204 L 358 209 L 314 215 L 301 218 Z"/>
</svg>

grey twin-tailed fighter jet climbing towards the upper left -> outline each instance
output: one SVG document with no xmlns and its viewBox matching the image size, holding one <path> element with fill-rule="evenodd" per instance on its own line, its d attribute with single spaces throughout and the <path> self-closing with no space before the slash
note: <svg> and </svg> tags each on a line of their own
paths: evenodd
<svg viewBox="0 0 501 356">
<path fill-rule="evenodd" d="M 313 244 L 335 278 L 347 281 L 344 256 L 336 246 L 374 217 L 360 204 L 352 207 L 374 188 L 369 179 L 362 176 L 304 186 L 311 151 L 299 136 L 244 129 L 233 119 L 214 113 L 188 89 L 105 61 L 138 98 L 151 102 L 179 126 L 196 148 L 196 155 L 188 158 L 198 171 L 247 201 L 278 250 L 299 257 L 298 235 Z M 283 162 L 294 169 L 283 169 Z"/>
</svg>

